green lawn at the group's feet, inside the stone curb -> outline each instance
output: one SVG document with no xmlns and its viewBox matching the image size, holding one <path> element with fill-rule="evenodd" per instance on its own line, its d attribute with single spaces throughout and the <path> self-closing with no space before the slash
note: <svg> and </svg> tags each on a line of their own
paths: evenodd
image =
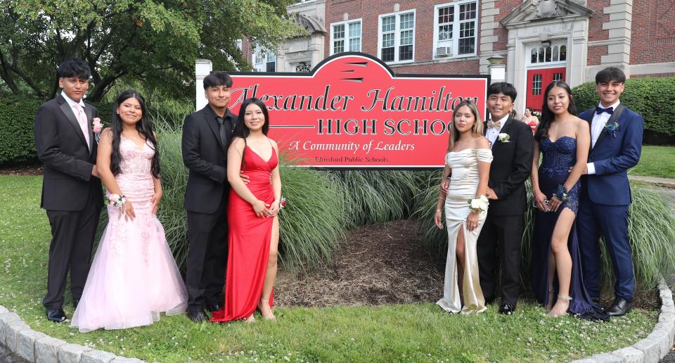
<svg viewBox="0 0 675 363">
<path fill-rule="evenodd" d="M 520 303 L 511 317 L 497 314 L 494 306 L 477 316 L 459 316 L 428 303 L 280 308 L 276 323 L 259 320 L 252 326 L 162 317 L 152 326 L 82 334 L 44 317 L 50 233 L 39 208 L 40 185 L 41 177 L 0 176 L 0 305 L 32 329 L 117 355 L 150 362 L 566 361 L 631 345 L 657 320 L 656 311 L 645 310 L 610 323 L 550 319 L 531 303 Z M 65 310 L 72 314 L 70 305 Z"/>
</svg>

